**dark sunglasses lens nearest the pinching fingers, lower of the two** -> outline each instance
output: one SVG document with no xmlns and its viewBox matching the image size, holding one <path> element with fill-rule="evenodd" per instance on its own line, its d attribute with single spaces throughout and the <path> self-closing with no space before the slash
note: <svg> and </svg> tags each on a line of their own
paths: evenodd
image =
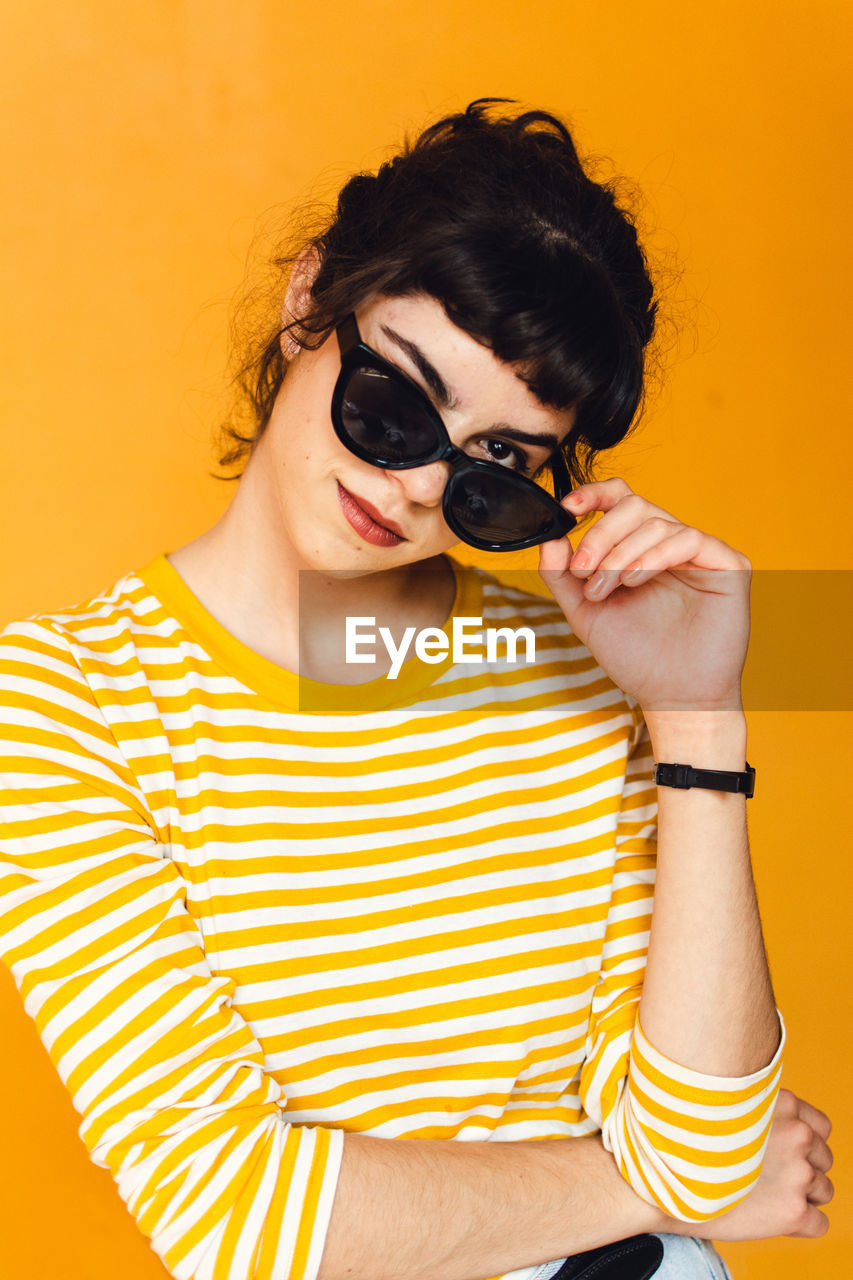
<svg viewBox="0 0 853 1280">
<path fill-rule="evenodd" d="M 539 497 L 537 489 L 511 474 L 492 475 L 479 468 L 457 474 L 451 480 L 448 507 L 462 536 L 493 545 L 547 541 L 558 535 L 546 493 Z"/>
</svg>

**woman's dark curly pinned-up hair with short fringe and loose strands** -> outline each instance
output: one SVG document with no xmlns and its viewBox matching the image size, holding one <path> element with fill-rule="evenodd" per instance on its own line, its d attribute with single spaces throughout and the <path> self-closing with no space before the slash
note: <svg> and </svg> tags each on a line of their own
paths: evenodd
<svg viewBox="0 0 853 1280">
<path fill-rule="evenodd" d="M 287 371 L 282 335 L 314 349 L 374 294 L 432 296 L 543 404 L 574 408 L 562 449 L 575 483 L 625 438 L 657 312 L 634 220 L 615 183 L 584 172 L 561 120 L 497 110 L 507 101 L 471 102 L 343 186 L 307 242 L 319 259 L 307 312 L 256 343 L 237 374 L 250 429 L 224 428 L 220 466 L 241 463 L 269 421 Z"/>
</svg>

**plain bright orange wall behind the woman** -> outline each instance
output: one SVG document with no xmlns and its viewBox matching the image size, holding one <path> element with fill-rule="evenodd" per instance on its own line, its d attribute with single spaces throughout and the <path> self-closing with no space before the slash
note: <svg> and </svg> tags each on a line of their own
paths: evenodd
<svg viewBox="0 0 853 1280">
<path fill-rule="evenodd" d="M 853 567 L 847 0 L 524 10 L 5 0 L 0 625 L 76 603 L 216 520 L 232 492 L 207 475 L 228 302 L 257 216 L 328 197 L 483 95 L 567 116 L 584 151 L 643 188 L 658 261 L 684 268 L 665 389 L 608 472 L 760 570 Z M 834 596 L 830 626 L 841 608 Z M 809 618 L 792 622 L 807 666 Z M 853 717 L 753 710 L 749 726 L 785 1083 L 835 1121 L 838 1192 L 825 1239 L 724 1253 L 735 1280 L 835 1280 L 853 1248 Z M 164 1277 L 1 977 L 3 1275 Z"/>
</svg>

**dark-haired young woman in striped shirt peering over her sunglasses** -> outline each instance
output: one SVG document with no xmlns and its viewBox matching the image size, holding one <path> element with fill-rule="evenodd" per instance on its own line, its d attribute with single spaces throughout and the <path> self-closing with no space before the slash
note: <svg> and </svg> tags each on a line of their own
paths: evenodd
<svg viewBox="0 0 853 1280">
<path fill-rule="evenodd" d="M 0 637 L 4 956 L 92 1157 L 177 1277 L 567 1280 L 648 1233 L 596 1274 L 721 1276 L 710 1238 L 821 1234 L 749 564 L 592 479 L 654 326 L 630 219 L 558 120 L 473 104 L 345 186 L 282 302 L 225 516 Z M 460 539 L 540 545 L 553 600 Z"/>
</svg>

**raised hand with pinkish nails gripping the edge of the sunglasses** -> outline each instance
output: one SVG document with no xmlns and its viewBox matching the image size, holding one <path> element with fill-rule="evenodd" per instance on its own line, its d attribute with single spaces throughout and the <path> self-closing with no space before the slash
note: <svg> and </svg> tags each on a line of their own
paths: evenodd
<svg viewBox="0 0 853 1280">
<path fill-rule="evenodd" d="M 620 476 L 580 485 L 571 504 L 579 517 L 603 515 L 574 553 L 567 539 L 543 547 L 539 572 L 611 680 L 637 698 L 649 723 L 661 710 L 740 712 L 747 557 Z"/>
</svg>

